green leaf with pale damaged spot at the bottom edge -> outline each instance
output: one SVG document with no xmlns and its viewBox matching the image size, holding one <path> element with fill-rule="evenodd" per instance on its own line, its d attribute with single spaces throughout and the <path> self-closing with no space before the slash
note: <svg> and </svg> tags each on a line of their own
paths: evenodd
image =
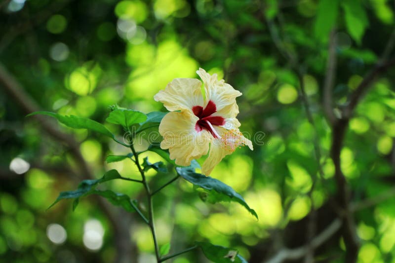
<svg viewBox="0 0 395 263">
<path fill-rule="evenodd" d="M 196 242 L 204 256 L 215 263 L 248 263 L 238 254 L 236 249 L 213 245 L 207 242 Z"/>
</svg>

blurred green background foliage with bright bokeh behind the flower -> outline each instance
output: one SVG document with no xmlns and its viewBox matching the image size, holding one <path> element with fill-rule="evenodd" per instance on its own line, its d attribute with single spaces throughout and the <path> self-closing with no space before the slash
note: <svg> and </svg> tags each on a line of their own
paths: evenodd
<svg viewBox="0 0 395 263">
<path fill-rule="evenodd" d="M 173 78 L 197 77 L 198 67 L 243 93 L 237 99 L 239 120 L 252 136 L 254 151 L 237 150 L 211 176 L 242 193 L 259 221 L 240 205 L 207 204 L 190 183 L 177 181 L 154 199 L 160 246 L 171 240 L 173 252 L 192 240 L 208 240 L 237 249 L 249 262 L 262 262 L 276 254 L 278 244 L 304 244 L 312 209 L 318 230 L 336 217 L 328 212 L 336 186 L 329 157 L 332 130 L 322 107 L 329 34 L 336 29 L 333 101 L 339 111 L 392 36 L 393 1 L 2 0 L 0 8 L 1 64 L 42 110 L 89 117 L 122 134 L 105 122 L 110 105 L 161 110 L 153 100 L 158 90 Z M 287 54 L 304 70 L 315 125 L 306 116 Z M 381 75 L 350 120 L 341 166 L 356 203 L 391 190 L 395 182 L 394 81 L 394 70 Z M 23 103 L 28 102 L 0 87 L 0 262 L 120 262 L 117 242 L 125 241 L 97 199 L 81 199 L 75 212 L 72 202 L 46 210 L 60 191 L 77 188 L 86 174 L 67 142 L 25 118 Z M 86 130 L 60 129 L 78 142 L 97 179 L 110 169 L 138 178 L 127 159 L 102 167 L 107 155 L 125 155 L 127 149 Z M 322 155 L 318 162 L 315 137 Z M 147 146 L 142 142 L 142 149 Z M 163 161 L 154 152 L 142 157 Z M 320 169 L 323 179 L 315 180 Z M 154 169 L 147 176 L 155 177 L 157 186 L 171 178 Z M 108 185 L 132 198 L 143 190 L 123 181 Z M 358 262 L 395 262 L 394 201 L 391 195 L 356 212 Z M 135 214 L 117 221 L 126 224 L 131 261 L 155 260 L 146 225 Z M 344 262 L 344 250 L 343 239 L 334 235 L 316 256 Z M 196 250 L 174 262 L 205 259 Z"/>
</svg>

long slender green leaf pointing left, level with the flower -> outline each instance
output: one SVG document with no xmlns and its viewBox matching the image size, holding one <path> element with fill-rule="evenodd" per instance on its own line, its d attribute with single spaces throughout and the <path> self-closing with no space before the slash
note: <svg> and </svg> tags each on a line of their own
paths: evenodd
<svg viewBox="0 0 395 263">
<path fill-rule="evenodd" d="M 88 119 L 88 118 L 83 118 L 83 117 L 78 117 L 75 115 L 60 115 L 57 113 L 51 113 L 51 112 L 35 112 L 35 113 L 30 113 L 28 116 L 36 115 L 36 114 L 42 114 L 42 115 L 48 115 L 51 117 L 56 118 L 59 122 L 63 123 L 64 125 L 74 128 L 74 129 L 88 129 L 91 131 L 95 131 L 98 133 L 101 133 L 103 135 L 106 135 L 112 139 L 115 138 L 114 134 L 112 134 L 109 130 L 107 130 L 104 125 L 100 124 L 99 122 Z"/>
</svg>

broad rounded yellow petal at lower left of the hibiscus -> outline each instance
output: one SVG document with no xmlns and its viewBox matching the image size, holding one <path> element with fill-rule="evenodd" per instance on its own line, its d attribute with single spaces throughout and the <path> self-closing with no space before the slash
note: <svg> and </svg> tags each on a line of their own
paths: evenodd
<svg viewBox="0 0 395 263">
<path fill-rule="evenodd" d="M 159 133 L 163 136 L 160 148 L 169 149 L 170 159 L 175 159 L 178 165 L 188 166 L 208 152 L 212 136 L 206 130 L 195 130 L 197 120 L 197 116 L 184 110 L 167 113 L 160 122 Z"/>
</svg>

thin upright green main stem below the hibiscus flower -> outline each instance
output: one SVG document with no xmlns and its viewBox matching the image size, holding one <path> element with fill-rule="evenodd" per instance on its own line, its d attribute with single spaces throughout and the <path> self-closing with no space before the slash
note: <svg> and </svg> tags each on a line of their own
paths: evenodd
<svg viewBox="0 0 395 263">
<path fill-rule="evenodd" d="M 154 246 L 155 246 L 155 256 L 157 257 L 157 261 L 160 262 L 160 257 L 159 257 L 159 247 L 158 247 L 158 241 L 157 241 L 157 235 L 155 233 L 155 225 L 154 225 L 154 208 L 153 208 L 153 204 L 152 204 L 152 194 L 151 194 L 151 190 L 150 187 L 147 183 L 145 174 L 144 174 L 144 169 L 141 167 L 140 165 L 140 161 L 139 161 L 139 154 L 136 152 L 136 150 L 134 149 L 133 144 L 130 145 L 130 149 L 133 152 L 134 158 L 135 158 L 135 162 L 137 165 L 137 169 L 139 169 L 139 172 L 141 174 L 142 177 L 142 183 L 144 185 L 144 188 L 146 190 L 147 193 L 147 199 L 148 199 L 148 225 L 151 229 L 151 233 L 152 233 L 152 238 L 154 239 Z"/>
</svg>

